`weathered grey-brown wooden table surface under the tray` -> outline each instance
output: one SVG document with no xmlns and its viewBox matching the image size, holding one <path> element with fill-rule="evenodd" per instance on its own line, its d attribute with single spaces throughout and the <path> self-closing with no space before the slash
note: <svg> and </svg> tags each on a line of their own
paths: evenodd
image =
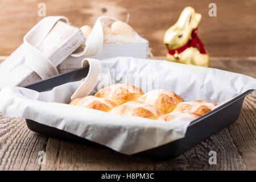
<svg viewBox="0 0 256 182">
<path fill-rule="evenodd" d="M 212 57 L 211 67 L 256 78 L 256 57 Z M 172 160 L 67 142 L 33 133 L 24 119 L 0 115 L 0 170 L 256 170 L 255 111 L 256 97 L 249 94 L 236 122 Z M 211 150 L 216 165 L 208 163 Z M 46 152 L 46 164 L 38 164 L 39 151 Z"/>
</svg>

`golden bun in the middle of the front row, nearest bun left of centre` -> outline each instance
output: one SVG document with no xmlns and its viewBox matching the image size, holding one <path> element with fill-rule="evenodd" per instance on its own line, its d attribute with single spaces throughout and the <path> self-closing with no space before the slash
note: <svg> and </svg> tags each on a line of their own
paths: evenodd
<svg viewBox="0 0 256 182">
<path fill-rule="evenodd" d="M 125 104 L 114 107 L 109 113 L 125 116 L 138 116 L 148 119 L 157 119 L 162 115 L 161 111 L 156 107 L 138 101 L 126 102 Z"/>
</svg>

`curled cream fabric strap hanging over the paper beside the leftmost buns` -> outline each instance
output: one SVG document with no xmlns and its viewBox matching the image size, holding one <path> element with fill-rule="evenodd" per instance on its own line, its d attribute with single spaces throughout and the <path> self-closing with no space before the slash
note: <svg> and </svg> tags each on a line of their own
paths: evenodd
<svg viewBox="0 0 256 182">
<path fill-rule="evenodd" d="M 81 98 L 87 96 L 92 92 L 93 88 L 98 82 L 98 76 L 101 73 L 101 62 L 97 59 L 86 58 L 82 60 L 82 67 L 85 67 L 89 64 L 89 72 L 86 76 L 84 82 L 79 86 L 79 88 L 71 96 L 71 101 L 75 98 Z"/>
</svg>

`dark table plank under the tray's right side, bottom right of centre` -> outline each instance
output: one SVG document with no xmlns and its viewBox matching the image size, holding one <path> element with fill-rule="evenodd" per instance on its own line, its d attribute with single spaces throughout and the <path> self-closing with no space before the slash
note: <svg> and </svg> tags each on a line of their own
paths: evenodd
<svg viewBox="0 0 256 182">
<path fill-rule="evenodd" d="M 216 152 L 217 164 L 210 165 L 208 155 Z M 155 163 L 156 170 L 245 170 L 245 164 L 225 128 L 204 142 L 166 162 Z"/>
</svg>

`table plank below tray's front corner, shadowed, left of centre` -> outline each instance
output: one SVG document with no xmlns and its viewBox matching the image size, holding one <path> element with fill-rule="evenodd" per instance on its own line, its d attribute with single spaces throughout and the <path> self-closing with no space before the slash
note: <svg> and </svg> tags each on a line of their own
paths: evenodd
<svg viewBox="0 0 256 182">
<path fill-rule="evenodd" d="M 42 170 L 152 170 L 152 160 L 49 138 Z"/>
</svg>

